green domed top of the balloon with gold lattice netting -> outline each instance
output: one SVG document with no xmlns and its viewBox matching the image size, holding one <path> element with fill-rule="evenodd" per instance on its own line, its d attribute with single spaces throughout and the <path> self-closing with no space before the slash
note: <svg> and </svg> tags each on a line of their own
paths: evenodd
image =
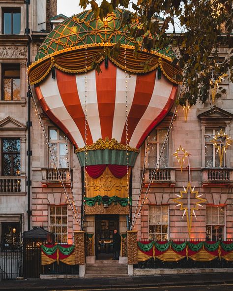
<svg viewBox="0 0 233 291">
<path fill-rule="evenodd" d="M 117 42 L 128 46 L 135 46 L 138 43 L 142 44 L 143 37 L 135 40 L 129 36 L 130 30 L 125 31 L 120 26 L 121 9 L 115 9 L 103 20 L 100 18 L 96 19 L 92 10 L 86 10 L 69 18 L 59 14 L 51 19 L 55 20 L 59 16 L 65 17 L 65 20 L 59 23 L 45 38 L 37 53 L 36 61 L 63 49 L 77 48 L 83 45 L 95 47 L 95 45 L 101 43 L 114 44 Z M 138 23 L 138 18 L 133 19 L 131 28 L 135 28 Z M 146 33 L 146 35 L 148 36 L 149 33 Z M 158 50 L 158 53 L 171 59 L 175 56 L 170 47 L 162 48 Z"/>
</svg>

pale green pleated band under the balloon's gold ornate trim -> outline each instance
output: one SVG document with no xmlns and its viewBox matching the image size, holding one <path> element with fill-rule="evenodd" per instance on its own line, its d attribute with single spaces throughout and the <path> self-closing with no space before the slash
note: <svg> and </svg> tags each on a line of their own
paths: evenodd
<svg viewBox="0 0 233 291">
<path fill-rule="evenodd" d="M 134 166 L 138 153 L 128 152 L 129 153 L 129 166 Z M 84 166 L 84 152 L 77 153 L 79 163 Z M 86 165 L 96 165 L 96 164 L 118 164 L 118 165 L 127 165 L 126 160 L 126 151 L 118 150 L 95 150 L 87 151 L 87 162 Z"/>
</svg>

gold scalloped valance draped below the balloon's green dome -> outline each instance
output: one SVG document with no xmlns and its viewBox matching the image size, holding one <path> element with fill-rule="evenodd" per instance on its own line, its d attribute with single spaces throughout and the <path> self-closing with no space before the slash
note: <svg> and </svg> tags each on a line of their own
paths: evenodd
<svg viewBox="0 0 233 291">
<path fill-rule="evenodd" d="M 70 47 L 50 54 L 29 66 L 29 82 L 31 85 L 38 84 L 49 74 L 53 67 L 67 73 L 84 72 L 86 68 L 86 52 L 87 70 L 90 70 L 92 69 L 91 65 L 93 61 L 96 63 L 101 63 L 104 60 L 104 57 L 101 54 L 104 46 L 106 45 L 103 43 L 87 44 L 79 47 Z M 114 46 L 114 44 L 109 43 L 107 46 L 111 47 Z M 139 57 L 135 58 L 134 46 L 121 45 L 120 53 L 117 59 L 109 57 L 109 59 L 118 67 L 125 69 L 124 48 L 126 48 L 128 72 L 145 73 L 144 64 L 148 61 L 148 71 L 152 71 L 159 66 L 163 74 L 171 82 L 180 84 L 180 82 L 176 80 L 176 75 L 180 74 L 179 68 L 171 64 L 171 58 L 160 53 L 148 53 L 146 51 L 142 51 L 139 54 Z"/>
</svg>

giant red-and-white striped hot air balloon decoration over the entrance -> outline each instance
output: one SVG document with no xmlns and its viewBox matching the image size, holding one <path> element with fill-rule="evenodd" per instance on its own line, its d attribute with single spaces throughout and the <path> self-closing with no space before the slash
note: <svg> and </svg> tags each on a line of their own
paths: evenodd
<svg viewBox="0 0 233 291">
<path fill-rule="evenodd" d="M 134 57 L 135 41 L 120 27 L 121 12 L 101 20 L 87 10 L 66 19 L 48 34 L 29 67 L 42 109 L 73 143 L 86 168 L 86 214 L 104 213 L 105 195 L 109 204 L 115 202 L 105 207 L 108 213 L 116 213 L 116 207 L 117 213 L 128 213 L 127 170 L 130 175 L 146 136 L 170 111 L 179 84 L 171 49 L 141 49 Z M 137 24 L 135 19 L 131 26 Z M 117 58 L 100 54 L 116 43 Z M 148 58 L 145 72 L 142 64 Z M 93 62 L 100 64 L 100 73 Z"/>
</svg>

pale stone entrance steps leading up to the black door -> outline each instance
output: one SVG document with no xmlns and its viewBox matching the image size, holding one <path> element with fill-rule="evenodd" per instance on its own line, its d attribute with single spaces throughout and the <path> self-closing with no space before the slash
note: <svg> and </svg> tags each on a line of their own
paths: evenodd
<svg viewBox="0 0 233 291">
<path fill-rule="evenodd" d="M 128 265 L 120 264 L 118 260 L 97 260 L 86 265 L 85 278 L 125 276 L 128 276 Z"/>
</svg>

